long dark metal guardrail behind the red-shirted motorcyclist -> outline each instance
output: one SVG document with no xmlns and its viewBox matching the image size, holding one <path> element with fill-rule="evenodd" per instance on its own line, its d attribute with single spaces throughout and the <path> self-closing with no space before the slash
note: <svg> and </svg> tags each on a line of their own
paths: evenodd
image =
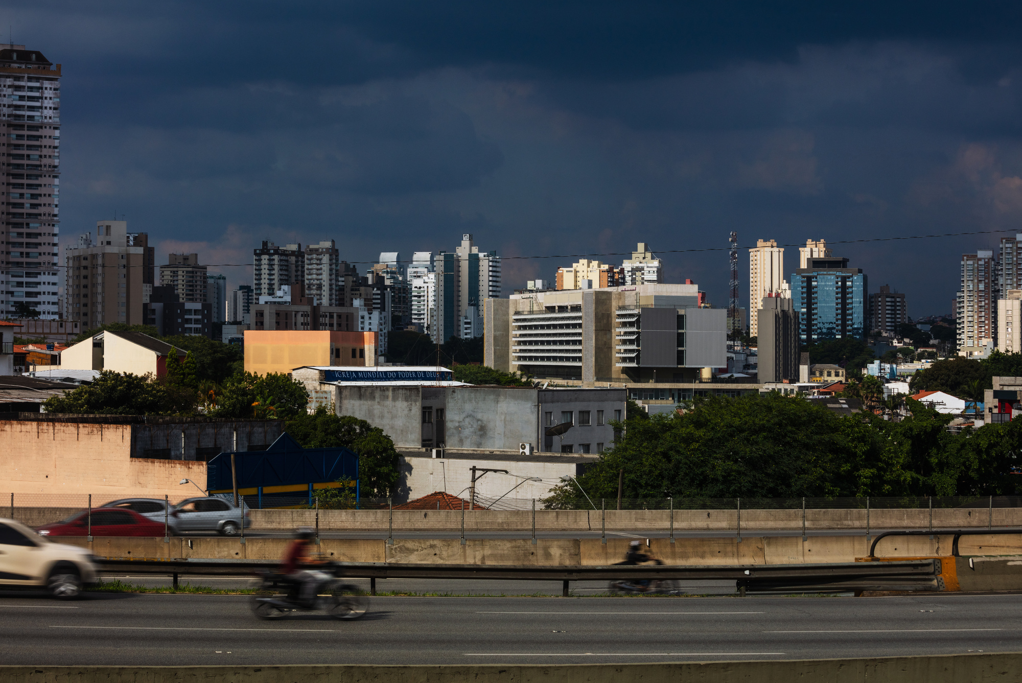
<svg viewBox="0 0 1022 683">
<path fill-rule="evenodd" d="M 97 558 L 101 573 L 231 576 L 270 571 L 277 562 L 267 560 Z M 938 590 L 940 560 L 892 562 L 833 562 L 821 564 L 425 564 L 397 562 L 339 562 L 339 575 L 370 579 L 375 594 L 376 579 L 508 579 L 516 581 L 561 581 L 568 594 L 571 581 L 620 580 L 728 580 L 736 581 L 741 594 L 750 591 L 844 592 L 852 590 Z"/>
</svg>

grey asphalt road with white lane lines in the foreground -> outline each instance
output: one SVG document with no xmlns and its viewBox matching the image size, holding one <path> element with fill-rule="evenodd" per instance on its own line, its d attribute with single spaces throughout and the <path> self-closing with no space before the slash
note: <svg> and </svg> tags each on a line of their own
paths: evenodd
<svg viewBox="0 0 1022 683">
<path fill-rule="evenodd" d="M 571 664 L 1022 647 L 1022 596 L 375 598 L 276 622 L 240 596 L 0 594 L 0 665 Z"/>
</svg>

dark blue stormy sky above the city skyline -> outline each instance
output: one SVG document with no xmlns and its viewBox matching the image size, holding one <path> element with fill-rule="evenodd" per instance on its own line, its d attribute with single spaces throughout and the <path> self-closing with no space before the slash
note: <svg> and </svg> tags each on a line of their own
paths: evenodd
<svg viewBox="0 0 1022 683">
<path fill-rule="evenodd" d="M 114 213 L 157 263 L 1013 231 L 835 246 L 922 316 L 963 252 L 1022 232 L 1018 3 L 4 5 L 62 64 L 65 243 Z M 662 258 L 727 306 L 726 252 Z M 509 259 L 505 290 L 568 263 Z"/>
</svg>

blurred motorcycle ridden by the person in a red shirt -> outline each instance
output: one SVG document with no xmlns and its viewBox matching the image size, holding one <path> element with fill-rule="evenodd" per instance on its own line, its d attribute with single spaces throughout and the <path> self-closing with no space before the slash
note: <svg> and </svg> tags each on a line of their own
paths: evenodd
<svg viewBox="0 0 1022 683">
<path fill-rule="evenodd" d="M 253 582 L 251 608 L 260 619 L 280 619 L 292 611 L 325 611 L 334 619 L 361 619 L 369 609 L 369 597 L 358 586 L 344 584 L 337 567 L 307 570 L 317 580 L 316 594 L 303 600 L 301 585 L 279 574 L 266 572 Z"/>
</svg>

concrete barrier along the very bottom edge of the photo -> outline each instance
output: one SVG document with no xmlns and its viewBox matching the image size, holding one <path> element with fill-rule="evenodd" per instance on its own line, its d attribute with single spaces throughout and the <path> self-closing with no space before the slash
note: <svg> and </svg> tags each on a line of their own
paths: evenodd
<svg viewBox="0 0 1022 683">
<path fill-rule="evenodd" d="M 614 665 L 3 667 L 0 683 L 963 683 L 1022 681 L 1022 653 Z"/>
</svg>

